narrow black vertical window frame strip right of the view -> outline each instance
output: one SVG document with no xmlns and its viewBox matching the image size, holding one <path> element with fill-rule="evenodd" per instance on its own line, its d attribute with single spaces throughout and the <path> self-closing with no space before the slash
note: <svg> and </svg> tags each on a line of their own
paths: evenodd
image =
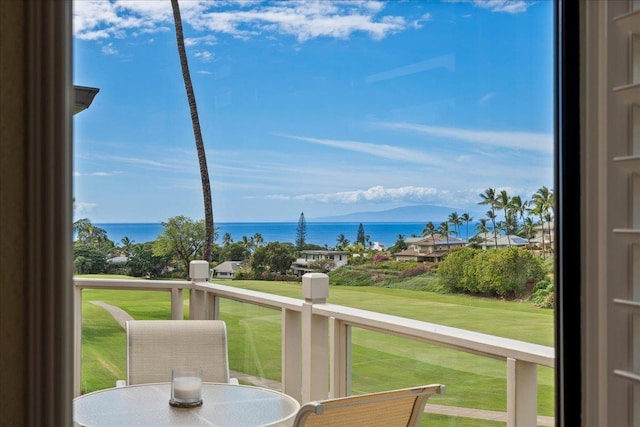
<svg viewBox="0 0 640 427">
<path fill-rule="evenodd" d="M 582 425 L 580 19 L 555 1 L 556 425 Z M 574 286 L 571 286 L 574 284 Z"/>
</svg>

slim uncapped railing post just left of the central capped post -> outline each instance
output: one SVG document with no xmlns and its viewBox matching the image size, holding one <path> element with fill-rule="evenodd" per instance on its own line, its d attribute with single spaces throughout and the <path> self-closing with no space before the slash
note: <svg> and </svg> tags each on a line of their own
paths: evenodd
<svg viewBox="0 0 640 427">
<path fill-rule="evenodd" d="M 302 402 L 302 317 L 282 309 L 282 391 Z"/>
</svg>

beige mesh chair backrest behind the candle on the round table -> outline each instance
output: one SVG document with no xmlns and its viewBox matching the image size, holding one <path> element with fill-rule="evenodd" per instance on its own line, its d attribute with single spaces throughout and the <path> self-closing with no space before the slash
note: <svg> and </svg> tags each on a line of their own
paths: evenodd
<svg viewBox="0 0 640 427">
<path fill-rule="evenodd" d="M 229 382 L 222 320 L 129 320 L 127 384 L 171 381 L 171 370 L 202 368 L 202 381 Z"/>
</svg>

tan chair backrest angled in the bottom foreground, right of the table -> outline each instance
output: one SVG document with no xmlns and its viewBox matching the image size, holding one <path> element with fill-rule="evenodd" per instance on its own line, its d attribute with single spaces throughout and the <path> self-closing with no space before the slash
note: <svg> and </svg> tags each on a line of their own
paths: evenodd
<svg viewBox="0 0 640 427">
<path fill-rule="evenodd" d="M 418 426 L 429 396 L 442 394 L 445 389 L 441 384 L 431 384 L 309 402 L 300 408 L 293 425 Z"/>
</svg>

